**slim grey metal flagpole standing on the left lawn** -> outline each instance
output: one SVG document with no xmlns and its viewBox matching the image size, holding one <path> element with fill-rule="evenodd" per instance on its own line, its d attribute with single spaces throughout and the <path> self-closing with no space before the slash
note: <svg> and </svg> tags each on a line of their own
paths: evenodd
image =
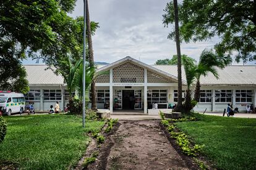
<svg viewBox="0 0 256 170">
<path fill-rule="evenodd" d="M 83 0 L 83 127 L 85 127 L 85 38 L 86 38 L 86 1 Z"/>
</svg>

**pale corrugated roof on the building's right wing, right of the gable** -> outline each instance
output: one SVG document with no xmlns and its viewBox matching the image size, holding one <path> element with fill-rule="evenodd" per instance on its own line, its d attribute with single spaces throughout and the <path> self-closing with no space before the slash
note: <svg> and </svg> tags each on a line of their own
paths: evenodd
<svg viewBox="0 0 256 170">
<path fill-rule="evenodd" d="M 152 65 L 159 70 L 165 71 L 171 75 L 177 76 L 176 65 Z M 219 78 L 216 79 L 212 73 L 207 76 L 201 76 L 200 83 L 202 85 L 250 85 L 256 86 L 256 66 L 247 65 L 231 65 L 223 70 L 216 68 Z M 182 79 L 186 80 L 185 71 L 182 67 Z"/>
</svg>

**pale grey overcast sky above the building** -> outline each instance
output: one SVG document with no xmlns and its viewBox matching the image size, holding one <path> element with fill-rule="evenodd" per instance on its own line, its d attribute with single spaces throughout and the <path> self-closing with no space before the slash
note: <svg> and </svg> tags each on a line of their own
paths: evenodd
<svg viewBox="0 0 256 170">
<path fill-rule="evenodd" d="M 114 62 L 129 55 L 153 64 L 176 54 L 176 44 L 167 39 L 173 25 L 164 28 L 163 9 L 169 0 L 89 0 L 90 20 L 100 28 L 93 36 L 95 61 Z M 83 0 L 77 0 L 72 17 L 83 15 Z M 182 43 L 181 53 L 198 60 L 205 48 L 218 42 Z"/>
</svg>

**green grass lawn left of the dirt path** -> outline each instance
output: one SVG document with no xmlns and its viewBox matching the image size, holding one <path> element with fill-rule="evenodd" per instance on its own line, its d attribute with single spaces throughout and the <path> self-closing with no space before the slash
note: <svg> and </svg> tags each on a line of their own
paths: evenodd
<svg viewBox="0 0 256 170">
<path fill-rule="evenodd" d="M 85 153 L 86 132 L 104 122 L 91 121 L 82 128 L 82 118 L 72 115 L 9 116 L 7 135 L 0 144 L 0 164 L 20 169 L 67 169 Z M 1 165 L 0 165 L 1 169 Z"/>
</svg>

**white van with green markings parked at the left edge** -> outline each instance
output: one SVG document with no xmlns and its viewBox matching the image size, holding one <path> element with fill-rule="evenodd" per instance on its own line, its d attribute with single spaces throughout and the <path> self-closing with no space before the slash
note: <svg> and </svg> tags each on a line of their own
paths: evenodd
<svg viewBox="0 0 256 170">
<path fill-rule="evenodd" d="M 25 98 L 21 93 L 0 91 L 0 111 L 10 116 L 12 113 L 23 113 Z"/>
</svg>

